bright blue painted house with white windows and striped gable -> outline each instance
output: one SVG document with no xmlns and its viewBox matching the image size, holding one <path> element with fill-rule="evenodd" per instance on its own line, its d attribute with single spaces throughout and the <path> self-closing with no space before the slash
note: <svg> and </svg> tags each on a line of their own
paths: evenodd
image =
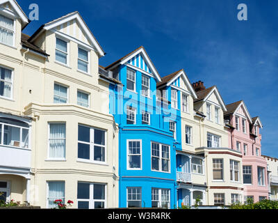
<svg viewBox="0 0 278 223">
<path fill-rule="evenodd" d="M 176 148 L 181 139 L 171 90 L 157 91 L 162 79 L 144 47 L 105 70 L 122 82 L 111 83 L 109 108 L 120 128 L 120 208 L 177 207 Z"/>
</svg>

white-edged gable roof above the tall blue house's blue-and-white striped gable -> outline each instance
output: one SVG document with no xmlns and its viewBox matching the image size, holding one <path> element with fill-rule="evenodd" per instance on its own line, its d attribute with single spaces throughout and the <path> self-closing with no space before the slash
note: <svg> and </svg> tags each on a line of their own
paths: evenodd
<svg viewBox="0 0 278 223">
<path fill-rule="evenodd" d="M 158 71 L 156 70 L 154 63 L 152 63 L 152 60 L 149 58 L 149 55 L 147 54 L 147 52 L 143 46 L 138 47 L 137 49 L 133 50 L 133 52 L 126 54 L 126 56 L 123 56 L 121 59 L 118 59 L 114 63 L 111 63 L 111 65 L 106 66 L 105 70 L 112 70 L 116 66 L 128 62 L 130 59 L 132 59 L 134 56 L 136 56 L 140 53 L 142 53 L 142 55 L 145 57 L 149 67 L 152 70 L 152 73 L 155 75 L 156 79 L 158 79 L 158 82 L 161 82 L 161 76 L 158 74 Z"/>
</svg>

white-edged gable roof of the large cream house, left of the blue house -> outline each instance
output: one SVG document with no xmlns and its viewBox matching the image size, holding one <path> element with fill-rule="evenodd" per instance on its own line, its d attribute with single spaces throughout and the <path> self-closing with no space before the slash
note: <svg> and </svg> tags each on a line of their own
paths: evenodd
<svg viewBox="0 0 278 223">
<path fill-rule="evenodd" d="M 60 24 L 64 24 L 65 22 L 69 22 L 74 19 L 76 19 L 79 22 L 79 24 L 81 25 L 81 28 L 83 29 L 86 36 L 91 41 L 92 45 L 95 47 L 95 49 L 97 50 L 99 55 L 104 56 L 104 54 L 105 54 L 104 50 L 99 45 L 99 43 L 97 42 L 97 39 L 92 34 L 92 32 L 88 28 L 87 24 L 85 24 L 85 21 L 83 20 L 83 18 L 77 11 L 64 15 L 56 20 L 52 20 L 51 22 L 47 22 L 46 24 L 43 24 L 42 26 L 40 26 L 40 28 L 37 31 L 35 31 L 35 33 L 33 33 L 33 35 L 31 36 L 31 38 L 28 41 L 32 43 L 35 40 L 35 38 L 40 36 L 40 33 L 42 33 L 42 31 L 53 29 L 56 26 L 59 26 Z"/>
</svg>

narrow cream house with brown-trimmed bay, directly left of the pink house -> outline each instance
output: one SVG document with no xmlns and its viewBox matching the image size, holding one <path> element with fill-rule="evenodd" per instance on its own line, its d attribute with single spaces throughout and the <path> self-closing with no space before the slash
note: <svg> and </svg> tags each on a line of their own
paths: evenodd
<svg viewBox="0 0 278 223">
<path fill-rule="evenodd" d="M 204 157 L 206 204 L 228 206 L 243 199 L 242 155 L 229 148 L 229 127 L 224 123 L 227 111 L 216 86 L 206 89 L 203 82 L 193 84 L 197 134 L 195 153 Z"/>
</svg>

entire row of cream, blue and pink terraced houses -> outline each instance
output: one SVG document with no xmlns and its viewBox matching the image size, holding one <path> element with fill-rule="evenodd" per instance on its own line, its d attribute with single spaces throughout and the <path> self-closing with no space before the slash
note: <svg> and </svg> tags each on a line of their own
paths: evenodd
<svg viewBox="0 0 278 223">
<path fill-rule="evenodd" d="M 261 120 L 243 101 L 225 105 L 183 69 L 161 77 L 144 47 L 99 66 L 104 49 L 79 12 L 31 36 L 29 23 L 15 0 L 0 0 L 0 200 L 180 208 L 277 199 L 277 159 L 261 156 Z"/>
</svg>

